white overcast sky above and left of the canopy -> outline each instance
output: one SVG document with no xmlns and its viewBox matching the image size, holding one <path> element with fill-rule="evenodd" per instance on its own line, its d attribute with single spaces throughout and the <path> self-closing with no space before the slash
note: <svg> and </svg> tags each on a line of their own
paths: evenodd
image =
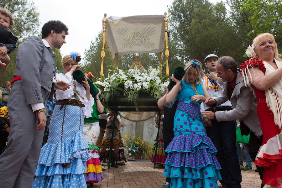
<svg viewBox="0 0 282 188">
<path fill-rule="evenodd" d="M 82 57 L 84 57 L 84 50 L 89 48 L 91 40 L 95 40 L 101 31 L 104 13 L 107 13 L 107 17 L 164 14 L 173 2 L 173 0 L 33 1 L 39 12 L 38 32 L 49 20 L 62 21 L 69 28 L 66 44 L 60 49 L 62 55 L 77 51 L 81 53 Z M 209 1 L 220 2 L 220 0 Z"/>
</svg>

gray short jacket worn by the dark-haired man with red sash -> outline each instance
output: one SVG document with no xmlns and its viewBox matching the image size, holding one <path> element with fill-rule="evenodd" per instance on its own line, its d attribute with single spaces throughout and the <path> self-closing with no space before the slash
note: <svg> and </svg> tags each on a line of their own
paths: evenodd
<svg viewBox="0 0 282 188">
<path fill-rule="evenodd" d="M 27 104 L 45 103 L 46 93 L 51 91 L 54 68 L 55 54 L 39 37 L 31 36 L 18 46 L 14 76 L 21 76 Z"/>
</svg>

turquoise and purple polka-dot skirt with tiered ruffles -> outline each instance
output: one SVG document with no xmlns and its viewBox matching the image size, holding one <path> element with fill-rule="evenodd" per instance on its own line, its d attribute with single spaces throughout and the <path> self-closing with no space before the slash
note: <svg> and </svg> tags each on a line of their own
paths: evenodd
<svg viewBox="0 0 282 188">
<path fill-rule="evenodd" d="M 206 136 L 201 115 L 196 112 L 199 109 L 193 109 L 193 114 L 175 112 L 175 137 L 165 150 L 168 156 L 164 176 L 171 178 L 171 188 L 217 188 L 217 180 L 221 180 L 217 149 Z"/>
</svg>

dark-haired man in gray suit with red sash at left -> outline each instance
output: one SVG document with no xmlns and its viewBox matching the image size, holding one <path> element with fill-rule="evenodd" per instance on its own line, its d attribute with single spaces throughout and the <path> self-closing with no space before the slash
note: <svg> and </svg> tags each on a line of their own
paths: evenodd
<svg viewBox="0 0 282 188">
<path fill-rule="evenodd" d="M 46 125 L 46 103 L 55 82 L 55 54 L 65 43 L 68 28 L 49 21 L 42 28 L 42 40 L 31 36 L 18 46 L 13 88 L 8 100 L 10 133 L 7 150 L 0 156 L 2 188 L 32 186 Z M 65 90 L 65 82 L 55 84 Z"/>
</svg>

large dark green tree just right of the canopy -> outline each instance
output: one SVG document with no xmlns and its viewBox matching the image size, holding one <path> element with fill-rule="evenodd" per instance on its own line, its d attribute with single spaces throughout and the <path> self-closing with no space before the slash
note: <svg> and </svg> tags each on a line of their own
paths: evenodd
<svg viewBox="0 0 282 188">
<path fill-rule="evenodd" d="M 196 58 L 202 63 L 208 54 L 231 55 L 235 32 L 223 2 L 175 0 L 169 7 L 170 32 L 180 59 Z"/>
</svg>

